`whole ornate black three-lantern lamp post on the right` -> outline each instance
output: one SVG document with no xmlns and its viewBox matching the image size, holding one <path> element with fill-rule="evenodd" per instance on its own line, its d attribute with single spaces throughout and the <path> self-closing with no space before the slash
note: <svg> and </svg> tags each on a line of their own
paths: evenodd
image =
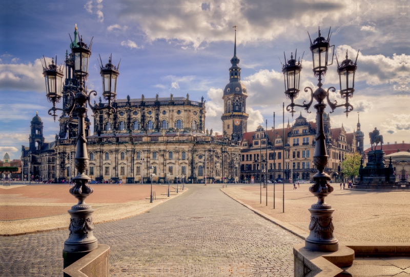
<svg viewBox="0 0 410 277">
<path fill-rule="evenodd" d="M 342 99 L 346 99 L 344 104 L 337 105 L 335 101 L 332 103 L 329 100 L 329 90 L 333 92 L 336 91 L 334 87 L 330 87 L 326 90 L 322 88 L 322 76 L 326 75 L 327 66 L 333 63 L 333 52 L 334 45 L 330 46 L 330 29 L 327 39 L 320 35 L 319 30 L 318 38 L 313 42 L 311 40 L 311 52 L 313 55 L 313 72 L 315 77 L 319 77 L 318 88 L 313 91 L 311 87 L 306 87 L 305 92 L 308 92 L 308 89 L 311 90 L 311 101 L 309 103 L 303 102 L 303 105 L 297 105 L 294 103 L 294 99 L 298 97 L 299 94 L 299 76 L 300 71 L 302 70 L 302 62 L 296 61 L 293 55 L 291 59 L 282 64 L 282 73 L 285 81 L 285 95 L 286 98 L 291 99 L 291 104 L 286 107 L 286 110 L 293 113 L 294 107 L 302 107 L 309 112 L 309 108 L 312 105 L 313 99 L 317 101 L 317 104 L 314 105 L 314 108 L 317 110 L 316 120 L 317 120 L 317 129 L 316 129 L 316 145 L 315 145 L 315 154 L 313 156 L 313 164 L 317 168 L 317 173 L 313 176 L 313 181 L 315 184 L 309 188 L 309 190 L 318 198 L 318 202 L 313 204 L 309 212 L 311 213 L 311 223 L 309 225 L 310 234 L 309 237 L 305 240 L 305 248 L 314 250 L 314 251 L 337 251 L 339 249 L 338 240 L 333 236 L 334 226 L 332 223 L 332 214 L 335 209 L 332 209 L 330 204 L 324 202 L 324 198 L 329 195 L 334 189 L 329 182 L 331 178 L 328 174 L 324 172 L 324 169 L 327 165 L 327 159 L 329 156 L 326 151 L 325 144 L 325 134 L 323 131 L 323 113 L 326 107 L 324 100 L 327 100 L 327 103 L 331 107 L 333 112 L 335 108 L 344 106 L 346 108 L 346 117 L 348 112 L 353 110 L 353 106 L 348 103 L 348 98 L 353 97 L 354 92 L 354 76 L 356 72 L 356 61 L 353 63 L 347 58 L 339 65 L 337 72 L 340 79 L 340 95 Z M 309 36 L 310 37 L 310 36 Z M 359 53 L 358 53 L 359 54 Z M 337 59 L 336 59 L 337 60 Z M 291 110 L 289 109 L 291 107 Z M 293 177 L 293 176 L 292 176 Z"/>
</svg>

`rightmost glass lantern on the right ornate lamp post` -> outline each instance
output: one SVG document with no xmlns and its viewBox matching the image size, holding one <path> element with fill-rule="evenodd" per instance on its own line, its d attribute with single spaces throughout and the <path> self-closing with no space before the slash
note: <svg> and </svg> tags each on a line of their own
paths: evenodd
<svg viewBox="0 0 410 277">
<path fill-rule="evenodd" d="M 359 56 L 359 52 L 357 53 L 357 57 Z M 357 70 L 357 57 L 356 61 L 353 62 L 347 56 L 346 51 L 346 59 L 342 61 L 342 63 L 337 66 L 337 73 L 339 74 L 339 81 L 340 81 L 340 95 L 342 98 L 353 97 L 353 93 L 355 91 L 355 73 Z"/>
</svg>

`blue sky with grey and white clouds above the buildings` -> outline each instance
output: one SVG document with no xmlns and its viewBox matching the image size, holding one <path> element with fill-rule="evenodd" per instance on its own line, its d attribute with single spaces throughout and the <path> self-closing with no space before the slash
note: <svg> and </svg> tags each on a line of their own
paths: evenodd
<svg viewBox="0 0 410 277">
<path fill-rule="evenodd" d="M 58 122 L 47 111 L 40 57 L 57 55 L 63 62 L 74 25 L 83 40 L 93 38 L 88 89 L 101 91 L 98 54 L 113 63 L 121 58 L 117 98 L 169 97 L 170 94 L 207 102 L 206 128 L 221 132 L 222 89 L 229 82 L 230 59 L 237 26 L 237 56 L 241 81 L 247 86 L 248 131 L 268 120 L 281 127 L 284 95 L 283 52 L 303 56 L 299 97 L 314 88 L 311 37 L 332 28 L 331 44 L 342 60 L 356 57 L 354 110 L 331 113 L 332 128 L 354 131 L 360 112 L 362 131 L 380 129 L 384 143 L 410 143 L 410 0 L 3 0 L 0 3 L 0 158 L 19 158 L 28 146 L 30 121 L 38 111 L 46 141 L 54 140 Z M 280 58 L 280 60 L 279 60 Z M 329 66 L 323 87 L 340 88 L 336 63 Z M 314 88 L 315 89 L 315 88 Z M 97 97 L 99 97 L 99 95 Z M 331 100 L 342 103 L 339 91 Z M 61 105 L 61 104 L 59 104 Z M 296 108 L 298 116 L 301 108 Z M 302 110 L 308 120 L 312 113 Z M 331 109 L 326 108 L 329 112 Z M 295 117 L 295 118 L 296 118 Z M 285 111 L 285 122 L 292 123 Z M 93 121 L 93 119 L 91 119 Z M 285 123 L 285 124 L 286 124 Z M 370 145 L 365 135 L 365 146 Z"/>
</svg>

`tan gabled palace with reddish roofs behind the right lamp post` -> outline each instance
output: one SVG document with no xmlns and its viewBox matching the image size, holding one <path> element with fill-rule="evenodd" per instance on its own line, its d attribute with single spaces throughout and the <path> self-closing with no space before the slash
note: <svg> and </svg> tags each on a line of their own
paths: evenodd
<svg viewBox="0 0 410 277">
<path fill-rule="evenodd" d="M 346 155 L 356 152 L 357 145 L 360 143 L 363 145 L 362 136 L 358 136 L 358 143 L 356 139 L 357 132 L 347 133 L 343 126 L 332 129 L 329 114 L 327 113 L 323 114 L 323 125 L 327 154 L 329 155 L 325 172 L 336 181 L 343 178 L 341 163 Z M 260 168 L 262 169 L 262 178 L 264 178 L 263 169 L 267 161 L 268 173 L 266 174 L 269 180 L 283 178 L 283 166 L 285 180 L 290 180 L 291 178 L 293 180 L 312 179 L 313 175 L 317 172 L 313 165 L 316 123 L 308 122 L 300 114 L 292 126 L 288 122 L 288 126 L 284 130 L 284 139 L 282 139 L 282 133 L 283 129 L 276 129 L 274 136 L 273 128 L 266 131 L 262 126 L 259 126 L 255 132 L 244 134 L 241 141 L 242 180 L 249 180 L 254 176 L 254 179 L 259 181 L 261 175 Z M 285 144 L 284 153 L 282 153 L 283 143 Z M 275 145 L 275 151 L 273 145 Z M 266 154 L 267 148 L 268 155 Z M 261 167 L 259 167 L 259 163 L 261 163 Z"/>
</svg>

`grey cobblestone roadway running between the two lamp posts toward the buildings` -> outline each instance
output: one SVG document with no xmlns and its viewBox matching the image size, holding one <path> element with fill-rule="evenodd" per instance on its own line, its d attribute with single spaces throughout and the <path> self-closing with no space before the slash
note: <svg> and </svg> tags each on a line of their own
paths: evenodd
<svg viewBox="0 0 410 277">
<path fill-rule="evenodd" d="M 301 239 L 220 186 L 189 188 L 149 212 L 94 226 L 99 242 L 111 247 L 112 276 L 293 276 L 292 246 Z M 0 275 L 60 275 L 67 236 L 61 230 L 0 238 Z"/>
</svg>

